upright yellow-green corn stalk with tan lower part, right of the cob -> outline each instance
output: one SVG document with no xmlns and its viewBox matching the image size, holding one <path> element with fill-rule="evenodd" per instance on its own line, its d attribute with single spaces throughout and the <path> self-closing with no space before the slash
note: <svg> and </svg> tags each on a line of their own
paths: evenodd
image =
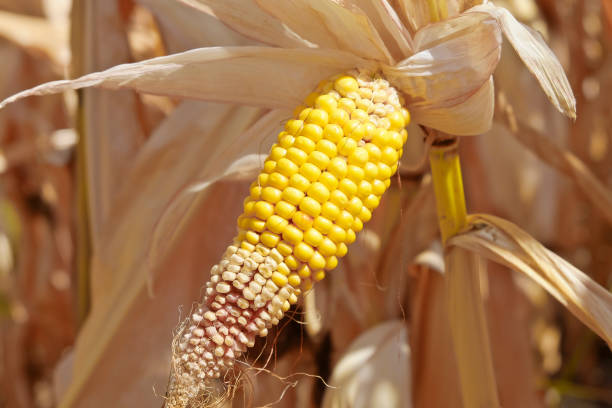
<svg viewBox="0 0 612 408">
<path fill-rule="evenodd" d="M 433 144 L 429 155 L 442 242 L 466 225 L 465 194 L 456 138 Z M 445 254 L 446 297 L 463 406 L 499 407 L 487 323 L 480 291 L 484 262 L 460 248 Z"/>
</svg>

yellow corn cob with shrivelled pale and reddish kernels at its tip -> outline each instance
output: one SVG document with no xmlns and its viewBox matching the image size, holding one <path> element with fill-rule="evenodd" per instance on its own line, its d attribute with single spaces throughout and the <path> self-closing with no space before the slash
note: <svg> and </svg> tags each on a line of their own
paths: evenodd
<svg viewBox="0 0 612 408">
<path fill-rule="evenodd" d="M 336 267 L 390 185 L 408 122 L 386 80 L 358 73 L 321 82 L 296 109 L 250 186 L 203 304 L 177 337 L 170 406 L 224 374 Z"/>
</svg>

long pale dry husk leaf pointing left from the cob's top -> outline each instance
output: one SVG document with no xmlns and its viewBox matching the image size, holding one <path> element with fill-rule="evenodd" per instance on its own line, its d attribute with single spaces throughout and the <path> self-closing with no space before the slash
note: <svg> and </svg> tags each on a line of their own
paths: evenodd
<svg viewBox="0 0 612 408">
<path fill-rule="evenodd" d="M 337 50 L 200 48 L 39 85 L 5 99 L 0 109 L 27 96 L 91 86 L 293 109 L 321 78 L 355 66 L 371 63 Z"/>
</svg>

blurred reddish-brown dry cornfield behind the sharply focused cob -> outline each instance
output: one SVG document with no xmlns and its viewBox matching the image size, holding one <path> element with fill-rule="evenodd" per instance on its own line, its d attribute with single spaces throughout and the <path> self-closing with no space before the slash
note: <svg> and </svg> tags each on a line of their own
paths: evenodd
<svg viewBox="0 0 612 408">
<path fill-rule="evenodd" d="M 520 225 L 610 289 L 612 1 L 496 4 L 544 35 L 578 118 L 559 115 L 504 48 L 493 128 L 461 139 L 468 207 Z M 121 63 L 250 44 L 168 0 L 0 0 L 0 100 Z M 231 241 L 253 174 L 238 166 L 199 192 L 232 149 L 224 135 L 252 131 L 244 149 L 267 152 L 274 135 L 254 126 L 262 113 L 97 89 L 0 111 L 0 407 L 162 405 L 173 330 Z M 366 407 L 372 396 L 381 407 L 461 406 L 420 132 L 409 129 L 399 176 L 356 248 L 249 354 L 255 368 L 234 406 Z M 481 290 L 502 406 L 612 407 L 603 340 L 505 267 L 489 264 Z"/>
</svg>

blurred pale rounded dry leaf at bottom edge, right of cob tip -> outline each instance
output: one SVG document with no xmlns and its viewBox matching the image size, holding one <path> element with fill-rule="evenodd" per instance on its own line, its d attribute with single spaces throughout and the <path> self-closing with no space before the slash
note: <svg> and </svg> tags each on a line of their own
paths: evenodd
<svg viewBox="0 0 612 408">
<path fill-rule="evenodd" d="M 404 321 L 373 327 L 334 367 L 323 408 L 412 407 L 410 359 Z"/>
</svg>

